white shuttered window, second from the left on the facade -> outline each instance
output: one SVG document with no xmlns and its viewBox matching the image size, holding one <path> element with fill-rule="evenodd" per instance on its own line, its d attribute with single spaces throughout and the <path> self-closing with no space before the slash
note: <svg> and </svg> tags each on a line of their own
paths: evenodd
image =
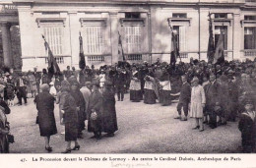
<svg viewBox="0 0 256 168">
<path fill-rule="evenodd" d="M 102 54 L 103 36 L 102 27 L 85 27 L 83 31 L 84 52 L 86 54 Z"/>
</svg>

